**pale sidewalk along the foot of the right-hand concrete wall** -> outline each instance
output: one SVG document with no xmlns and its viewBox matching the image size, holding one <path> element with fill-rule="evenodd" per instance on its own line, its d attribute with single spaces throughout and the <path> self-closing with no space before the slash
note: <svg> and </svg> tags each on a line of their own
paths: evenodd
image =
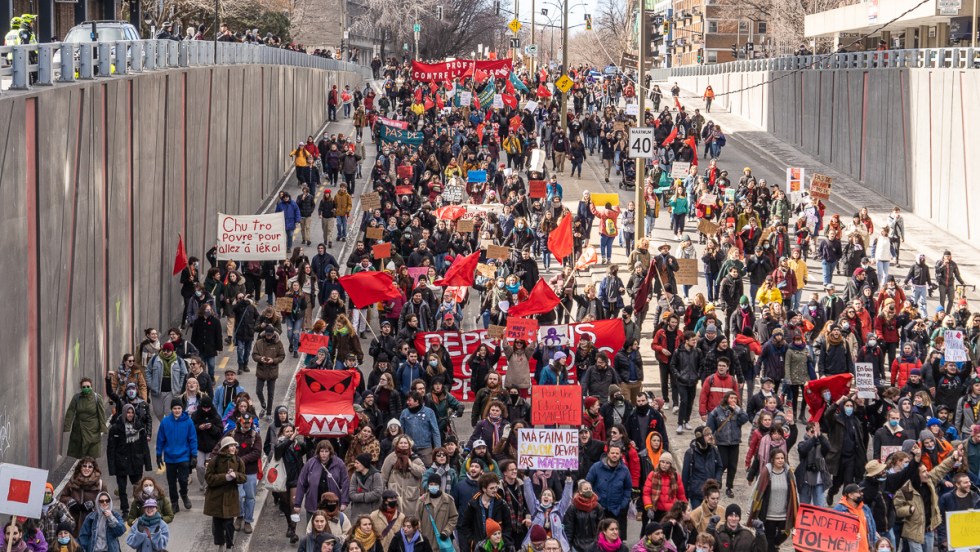
<svg viewBox="0 0 980 552">
<path fill-rule="evenodd" d="M 693 92 L 691 94 L 695 95 Z M 688 109 L 704 109 L 704 102 L 700 99 L 689 98 L 685 102 L 685 107 Z M 862 207 L 867 207 L 876 229 L 885 224 L 888 215 L 896 206 L 887 197 L 868 190 L 860 182 L 775 138 L 764 129 L 747 122 L 745 119 L 732 115 L 725 110 L 720 110 L 717 105 L 714 107 L 715 109 L 710 115 L 704 113 L 705 118 L 721 124 L 729 140 L 751 151 L 754 156 L 778 166 L 783 171 L 786 167 L 804 167 L 808 175 L 820 173 L 833 178 L 833 191 L 830 201 L 827 202 L 829 207 L 827 217 L 840 213 L 841 219 L 845 223 L 849 223 L 851 215 L 857 213 Z M 735 175 L 736 178 L 737 176 Z M 781 188 L 785 188 L 784 180 L 777 178 L 771 180 L 778 183 Z M 953 253 L 953 259 L 960 268 L 960 275 L 963 276 L 963 280 L 967 284 L 980 282 L 980 247 L 943 231 L 914 213 L 903 210 L 902 218 L 905 220 L 906 241 L 902 246 L 902 266 L 894 272 L 896 280 L 899 280 L 899 285 L 901 285 L 901 279 L 905 278 L 906 270 L 904 269 L 907 269 L 915 255 L 918 253 L 925 254 L 926 263 L 932 268 L 936 261 L 942 258 L 943 252 L 946 250 Z M 980 297 L 975 291 L 968 292 L 967 295 L 974 300 Z M 935 300 L 938 300 L 938 296 L 934 297 L 930 303 Z"/>
</svg>

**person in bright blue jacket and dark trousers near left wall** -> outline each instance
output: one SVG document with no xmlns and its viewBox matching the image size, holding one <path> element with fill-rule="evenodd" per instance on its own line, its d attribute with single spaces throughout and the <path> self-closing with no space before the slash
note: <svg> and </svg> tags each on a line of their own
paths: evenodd
<svg viewBox="0 0 980 552">
<path fill-rule="evenodd" d="M 191 417 L 184 413 L 180 399 L 170 403 L 171 416 L 160 422 L 157 430 L 157 467 L 166 463 L 167 486 L 170 488 L 170 502 L 174 512 L 180 511 L 177 503 L 177 487 L 184 508 L 191 509 L 191 499 L 187 496 L 187 477 L 190 467 L 197 465 L 197 429 Z"/>
</svg>

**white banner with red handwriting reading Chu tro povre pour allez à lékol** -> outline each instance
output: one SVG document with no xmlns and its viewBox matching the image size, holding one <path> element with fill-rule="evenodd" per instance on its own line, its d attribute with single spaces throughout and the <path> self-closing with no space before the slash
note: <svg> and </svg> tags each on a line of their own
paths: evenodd
<svg viewBox="0 0 980 552">
<path fill-rule="evenodd" d="M 286 250 L 286 217 L 268 215 L 226 215 L 218 213 L 218 260 L 278 261 L 289 256 Z"/>
</svg>

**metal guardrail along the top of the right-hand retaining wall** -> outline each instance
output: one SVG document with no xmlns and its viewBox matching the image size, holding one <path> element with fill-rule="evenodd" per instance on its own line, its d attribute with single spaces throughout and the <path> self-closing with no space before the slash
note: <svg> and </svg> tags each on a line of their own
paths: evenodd
<svg viewBox="0 0 980 552">
<path fill-rule="evenodd" d="M 976 69 L 980 68 L 980 48 L 920 48 L 847 52 L 833 55 L 782 56 L 745 59 L 714 65 L 671 67 L 671 77 L 697 77 L 748 71 L 795 71 L 802 69 Z M 656 71 L 656 69 L 655 69 Z"/>
</svg>

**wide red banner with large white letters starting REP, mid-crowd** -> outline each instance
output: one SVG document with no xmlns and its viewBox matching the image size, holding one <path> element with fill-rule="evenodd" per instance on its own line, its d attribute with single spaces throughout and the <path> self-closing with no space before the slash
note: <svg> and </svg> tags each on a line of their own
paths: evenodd
<svg viewBox="0 0 980 552">
<path fill-rule="evenodd" d="M 542 326 L 540 332 L 549 333 L 554 326 Z M 559 326 L 560 328 L 561 326 Z M 583 339 L 591 341 L 596 349 L 604 352 L 610 357 L 616 355 L 623 344 L 626 343 L 626 332 L 623 328 L 623 321 L 620 318 L 609 320 L 597 320 L 595 322 L 583 322 L 581 324 L 570 324 L 565 326 L 570 336 L 569 346 L 578 347 Z M 470 384 L 472 373 L 467 365 L 470 356 L 476 353 L 477 348 L 483 344 L 493 351 L 496 343 L 492 341 L 488 330 L 474 330 L 469 332 L 419 332 L 415 334 L 415 348 L 421 353 L 429 350 L 429 346 L 439 341 L 449 353 L 449 358 L 453 364 L 453 396 L 461 401 L 472 401 L 475 393 Z M 542 341 L 542 344 L 547 344 Z M 537 368 L 537 361 L 533 358 L 530 361 L 531 373 Z M 507 373 L 507 359 L 501 356 L 497 362 L 497 372 Z M 574 383 L 578 381 L 578 368 L 574 365 L 568 369 L 568 379 Z"/>
</svg>

